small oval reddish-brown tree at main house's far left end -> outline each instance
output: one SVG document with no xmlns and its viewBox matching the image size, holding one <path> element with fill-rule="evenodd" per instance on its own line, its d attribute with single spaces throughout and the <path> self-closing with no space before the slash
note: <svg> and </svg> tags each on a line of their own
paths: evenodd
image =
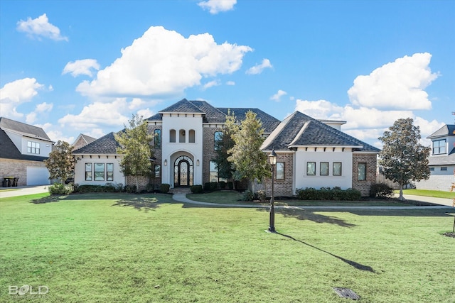
<svg viewBox="0 0 455 303">
<path fill-rule="evenodd" d="M 65 182 L 74 174 L 76 160 L 73 156 L 73 146 L 59 140 L 44 163 L 49 170 L 49 179 L 56 179 L 59 183 Z"/>
</svg>

